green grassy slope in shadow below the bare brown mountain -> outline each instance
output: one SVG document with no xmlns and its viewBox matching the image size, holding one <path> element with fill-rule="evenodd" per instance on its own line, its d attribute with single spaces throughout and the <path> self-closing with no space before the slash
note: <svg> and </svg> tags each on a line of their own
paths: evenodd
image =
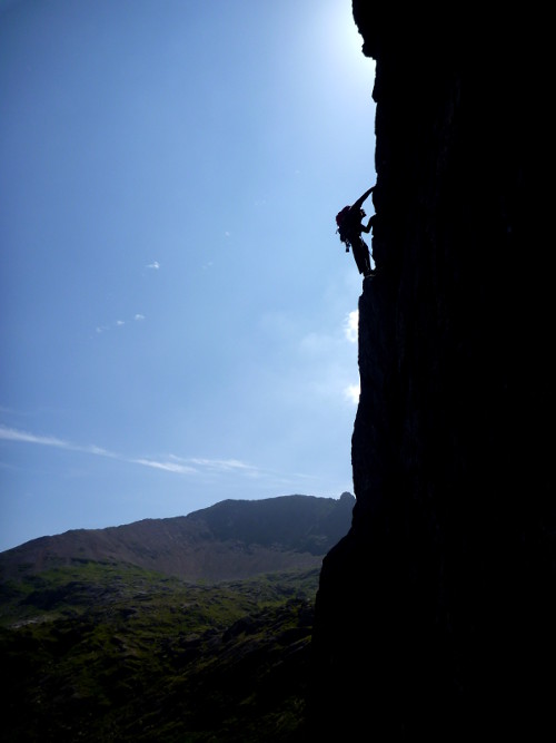
<svg viewBox="0 0 556 743">
<path fill-rule="evenodd" d="M 83 560 L 3 584 L 2 740 L 294 740 L 318 575 L 199 585 Z"/>
</svg>

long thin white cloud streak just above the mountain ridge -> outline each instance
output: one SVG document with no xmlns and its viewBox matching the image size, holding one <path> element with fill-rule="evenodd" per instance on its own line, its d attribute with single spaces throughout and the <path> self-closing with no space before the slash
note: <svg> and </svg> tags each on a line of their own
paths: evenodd
<svg viewBox="0 0 556 743">
<path fill-rule="evenodd" d="M 6 441 L 17 441 L 20 443 L 34 443 L 43 447 L 56 447 L 57 449 L 66 449 L 67 451 L 78 451 L 86 454 L 93 454 L 96 457 L 107 457 L 117 459 L 130 465 L 140 465 L 141 467 L 151 467 L 153 469 L 165 470 L 177 475 L 193 475 L 201 472 L 224 473 L 236 472 L 249 477 L 257 477 L 259 470 L 252 465 L 247 465 L 238 459 L 202 459 L 202 458 L 181 458 L 170 454 L 162 459 L 152 459 L 148 457 L 125 457 L 102 447 L 96 444 L 81 446 L 59 439 L 53 436 L 39 436 L 28 431 L 20 431 L 18 429 L 8 428 L 0 424 L 0 439 Z"/>
</svg>

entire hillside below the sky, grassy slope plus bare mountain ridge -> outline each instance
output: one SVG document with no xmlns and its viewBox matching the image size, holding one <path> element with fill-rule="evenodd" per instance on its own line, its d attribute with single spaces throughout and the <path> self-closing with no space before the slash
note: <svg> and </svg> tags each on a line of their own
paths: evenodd
<svg viewBox="0 0 556 743">
<path fill-rule="evenodd" d="M 354 502 L 225 500 L 0 554 L 2 740 L 304 740 L 320 565 Z"/>
</svg>

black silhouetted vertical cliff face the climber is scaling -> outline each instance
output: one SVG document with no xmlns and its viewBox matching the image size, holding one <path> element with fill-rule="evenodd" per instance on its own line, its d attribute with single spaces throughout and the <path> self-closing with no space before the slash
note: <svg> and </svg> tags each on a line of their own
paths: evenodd
<svg viewBox="0 0 556 743">
<path fill-rule="evenodd" d="M 549 45 L 523 8 L 411 12 L 354 0 L 378 273 L 310 710 L 322 733 L 530 740 L 556 726 Z"/>
</svg>

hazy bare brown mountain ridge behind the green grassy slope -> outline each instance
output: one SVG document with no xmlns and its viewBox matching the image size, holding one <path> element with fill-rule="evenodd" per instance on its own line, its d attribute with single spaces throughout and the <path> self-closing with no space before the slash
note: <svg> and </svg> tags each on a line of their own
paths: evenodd
<svg viewBox="0 0 556 743">
<path fill-rule="evenodd" d="M 355 498 L 222 500 L 188 516 L 73 529 L 0 553 L 0 580 L 76 560 L 127 563 L 183 580 L 236 580 L 310 569 L 347 534 Z"/>
</svg>

